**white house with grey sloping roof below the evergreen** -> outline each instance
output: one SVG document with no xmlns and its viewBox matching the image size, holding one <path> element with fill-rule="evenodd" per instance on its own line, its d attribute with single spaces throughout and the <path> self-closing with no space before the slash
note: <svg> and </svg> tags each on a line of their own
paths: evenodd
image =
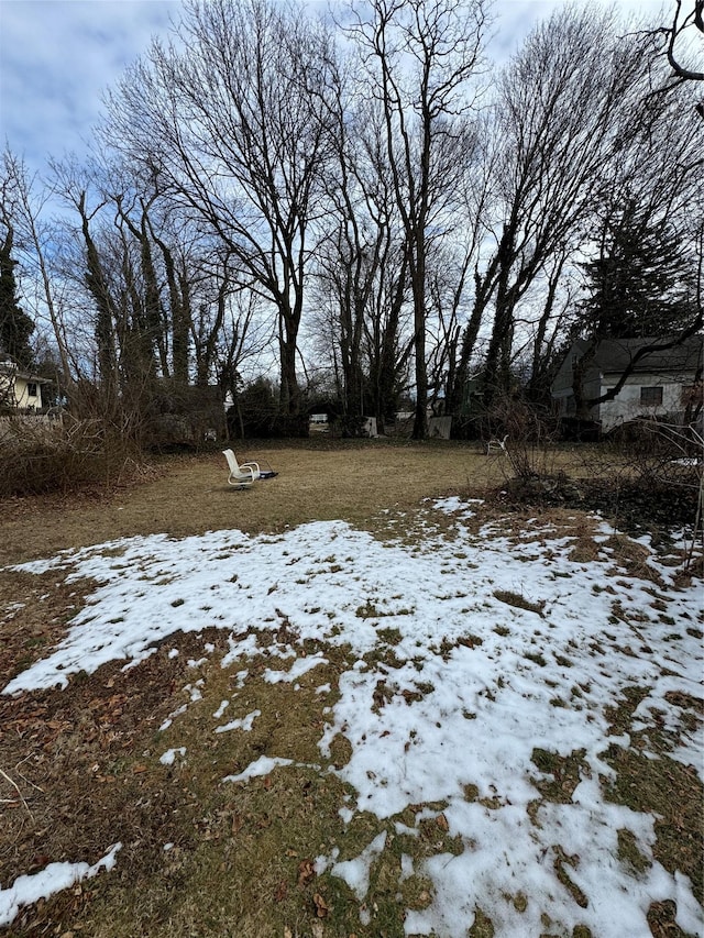
<svg viewBox="0 0 704 938">
<path fill-rule="evenodd" d="M 560 418 L 578 415 L 574 372 L 582 364 L 582 394 L 585 400 L 601 397 L 614 388 L 637 352 L 667 340 L 579 339 L 562 362 L 552 383 L 552 398 Z M 582 361 L 584 360 L 584 361 Z M 702 399 L 702 336 L 694 335 L 679 345 L 644 354 L 613 400 L 596 404 L 588 417 L 607 433 L 622 423 L 642 417 L 669 418 L 681 422 Z"/>
</svg>

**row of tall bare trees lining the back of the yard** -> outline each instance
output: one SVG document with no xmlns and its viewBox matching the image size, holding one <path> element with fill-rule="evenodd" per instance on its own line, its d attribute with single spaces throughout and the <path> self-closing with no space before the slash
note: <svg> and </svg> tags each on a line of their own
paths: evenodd
<svg viewBox="0 0 704 938">
<path fill-rule="evenodd" d="M 188 0 L 89 162 L 6 153 L 4 352 L 123 432 L 217 384 L 289 432 L 413 400 L 421 439 L 470 386 L 544 401 L 574 338 L 701 328 L 704 122 L 658 24 L 568 5 L 499 70 L 491 13 Z"/>
</svg>

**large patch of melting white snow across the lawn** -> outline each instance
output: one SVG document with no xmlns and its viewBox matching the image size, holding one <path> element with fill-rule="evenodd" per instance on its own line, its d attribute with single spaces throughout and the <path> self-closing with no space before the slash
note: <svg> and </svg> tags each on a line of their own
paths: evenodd
<svg viewBox="0 0 704 938">
<path fill-rule="evenodd" d="M 187 662 L 193 677 L 180 688 L 183 703 L 145 755 L 154 771 L 187 771 L 190 758 L 201 758 L 180 735 L 190 708 L 198 726 L 209 727 L 206 748 L 217 735 L 250 732 L 262 713 L 242 698 L 258 674 L 294 692 L 315 688 L 321 764 L 306 769 L 351 786 L 339 808 L 345 825 L 362 812 L 377 823 L 358 856 L 343 858 L 332 846 L 315 869 L 348 884 L 362 925 L 374 907 L 370 870 L 387 839 L 420 837 L 430 820 L 462 849 L 448 853 L 440 843 L 426 860 L 402 856 L 402 882 L 419 875 L 433 886 L 426 908 L 407 911 L 406 934 L 465 938 L 479 907 L 496 938 L 537 938 L 542 914 L 559 934 L 582 925 L 600 938 L 645 936 L 650 904 L 672 901 L 678 925 L 701 938 L 703 911 L 689 878 L 653 857 L 657 816 L 609 802 L 604 787 L 614 777 L 605 751 L 632 751 L 638 731 L 645 758 L 658 758 L 649 731 L 671 732 L 670 757 L 704 776 L 702 721 L 696 730 L 685 725 L 676 706 L 702 691 L 701 584 L 675 586 L 674 556 L 658 553 L 648 536 L 635 549 L 644 552 L 638 570 L 651 575 L 619 566 L 615 532 L 597 517 L 581 528 L 592 544 L 585 553 L 580 541 L 580 554 L 573 529 L 534 518 L 510 534 L 508 519 L 483 511 L 480 500 L 426 499 L 409 512 L 382 512 L 381 540 L 327 521 L 280 534 L 135 537 L 23 564 L 30 575 L 56 571 L 95 585 L 61 644 L 0 693 L 64 687 L 70 675 L 113 660 L 129 673 L 156 645 L 178 655 L 177 630 L 226 630 L 220 651 L 201 637 L 202 656 Z M 419 536 L 409 540 L 409 530 Z M 349 653 L 333 698 L 317 672 L 336 648 Z M 210 676 L 222 687 L 220 669 L 230 670 L 226 699 L 210 687 Z M 646 696 L 628 731 L 615 735 L 608 706 L 632 686 Z M 351 754 L 336 768 L 330 743 L 338 733 Z M 536 786 L 554 781 L 538 768 L 536 749 L 561 757 L 583 750 L 565 803 L 544 799 L 536 808 Z M 248 785 L 298 764 L 272 743 L 249 764 L 232 765 L 222 783 Z M 630 831 L 650 865 L 636 872 L 619 860 L 619 830 Z M 0 882 L 0 926 L 42 895 L 120 870 L 120 849 L 116 837 L 102 856 L 53 862 L 34 875 L 14 871 L 13 881 Z M 579 858 L 569 878 L 586 902 L 558 875 L 564 856 Z M 519 894 L 528 897 L 524 907 L 513 901 Z"/>
</svg>

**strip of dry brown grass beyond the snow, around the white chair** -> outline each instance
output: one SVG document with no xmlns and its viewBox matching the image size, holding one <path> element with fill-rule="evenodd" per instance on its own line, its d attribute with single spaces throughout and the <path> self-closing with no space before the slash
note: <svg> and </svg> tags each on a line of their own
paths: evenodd
<svg viewBox="0 0 704 938">
<path fill-rule="evenodd" d="M 164 460 L 147 481 L 107 496 L 92 492 L 7 500 L 0 565 L 133 534 L 185 537 L 227 528 L 255 533 L 312 520 L 354 522 L 383 508 L 407 508 L 424 497 L 486 490 L 501 484 L 508 471 L 505 460 L 487 457 L 477 444 L 468 443 L 234 449 L 240 459 L 268 461 L 278 476 L 251 489 L 232 488 L 218 452 Z"/>
</svg>

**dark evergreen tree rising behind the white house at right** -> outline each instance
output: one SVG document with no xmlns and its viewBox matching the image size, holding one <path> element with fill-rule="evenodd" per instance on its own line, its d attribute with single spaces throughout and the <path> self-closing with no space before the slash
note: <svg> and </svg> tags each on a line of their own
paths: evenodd
<svg viewBox="0 0 704 938">
<path fill-rule="evenodd" d="M 681 240 L 666 221 L 652 222 L 634 201 L 604 219 L 598 256 L 581 266 L 588 290 L 579 305 L 583 334 L 671 335 L 694 314 Z"/>
</svg>

